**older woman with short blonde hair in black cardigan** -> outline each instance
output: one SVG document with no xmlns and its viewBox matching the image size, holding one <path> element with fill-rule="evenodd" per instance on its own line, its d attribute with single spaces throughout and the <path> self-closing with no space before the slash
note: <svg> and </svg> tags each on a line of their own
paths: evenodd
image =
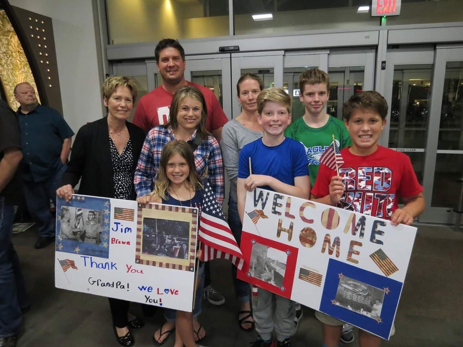
<svg viewBox="0 0 463 347">
<path fill-rule="evenodd" d="M 144 131 L 127 121 L 130 117 L 137 86 L 129 77 L 108 77 L 103 85 L 103 103 L 107 115 L 79 129 L 71 159 L 63 174 L 62 187 L 56 194 L 69 200 L 81 180 L 79 194 L 105 198 L 135 200 L 133 176 L 143 146 Z M 113 326 L 120 345 L 135 343 L 129 330 L 143 325 L 127 318 L 129 302 L 108 298 Z"/>
</svg>

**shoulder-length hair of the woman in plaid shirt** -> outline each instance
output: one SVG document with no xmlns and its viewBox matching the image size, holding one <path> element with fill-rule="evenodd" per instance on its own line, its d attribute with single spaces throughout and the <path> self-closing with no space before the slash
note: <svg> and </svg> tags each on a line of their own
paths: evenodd
<svg viewBox="0 0 463 347">
<path fill-rule="evenodd" d="M 200 123 L 196 126 L 196 129 L 198 130 L 198 134 L 201 135 L 201 138 L 204 139 L 206 138 L 207 135 L 209 135 L 209 132 L 206 130 L 206 119 L 207 119 L 206 99 L 204 99 L 203 93 L 201 93 L 201 91 L 194 86 L 181 87 L 179 90 L 175 92 L 174 98 L 172 99 L 172 102 L 170 103 L 170 117 L 169 117 L 169 122 L 166 124 L 166 126 L 170 126 L 173 130 L 176 130 L 178 128 L 178 121 L 177 121 L 178 110 L 180 109 L 181 100 L 183 100 L 187 96 L 201 103 L 201 108 L 202 108 L 201 119 L 200 119 Z"/>
</svg>

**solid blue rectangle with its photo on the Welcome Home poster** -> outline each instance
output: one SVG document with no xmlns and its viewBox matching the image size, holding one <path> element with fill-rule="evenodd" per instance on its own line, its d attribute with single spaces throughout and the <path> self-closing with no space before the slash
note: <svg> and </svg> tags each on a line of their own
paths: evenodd
<svg viewBox="0 0 463 347">
<path fill-rule="evenodd" d="M 401 282 L 330 259 L 319 310 L 389 339 L 401 291 Z"/>
</svg>

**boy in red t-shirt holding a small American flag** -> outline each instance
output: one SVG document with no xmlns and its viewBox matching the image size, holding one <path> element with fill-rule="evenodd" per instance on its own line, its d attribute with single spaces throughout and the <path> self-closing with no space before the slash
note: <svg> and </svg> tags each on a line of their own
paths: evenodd
<svg viewBox="0 0 463 347">
<path fill-rule="evenodd" d="M 344 124 L 352 146 L 341 150 L 344 164 L 339 176 L 336 170 L 320 165 L 311 191 L 313 201 L 389 219 L 393 225 L 410 225 L 425 209 L 423 187 L 410 158 L 378 145 L 387 114 L 388 104 L 377 92 L 359 93 L 344 103 Z M 402 208 L 399 197 L 405 203 Z M 324 346 L 337 347 L 343 322 L 320 312 L 315 316 L 323 323 Z M 379 347 L 381 340 L 359 330 L 359 343 L 361 347 Z"/>
</svg>

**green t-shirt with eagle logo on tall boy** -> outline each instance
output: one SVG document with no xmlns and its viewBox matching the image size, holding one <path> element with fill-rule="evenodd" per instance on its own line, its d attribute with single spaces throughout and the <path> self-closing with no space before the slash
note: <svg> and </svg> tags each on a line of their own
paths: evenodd
<svg viewBox="0 0 463 347">
<path fill-rule="evenodd" d="M 344 121 L 330 116 L 328 122 L 321 128 L 312 128 L 301 117 L 285 130 L 285 136 L 299 141 L 306 148 L 309 161 L 310 186 L 313 187 L 320 167 L 320 157 L 332 143 L 332 135 L 339 143 L 339 149 L 351 146 L 349 131 Z"/>
</svg>

